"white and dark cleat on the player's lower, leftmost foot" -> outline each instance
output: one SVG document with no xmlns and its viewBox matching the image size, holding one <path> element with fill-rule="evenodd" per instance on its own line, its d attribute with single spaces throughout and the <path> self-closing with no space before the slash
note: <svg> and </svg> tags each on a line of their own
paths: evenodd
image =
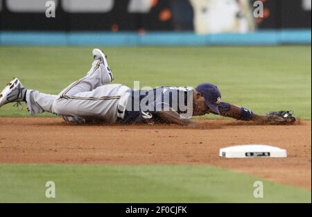
<svg viewBox="0 0 312 217">
<path fill-rule="evenodd" d="M 14 78 L 8 83 L 0 94 L 0 107 L 8 103 L 23 101 L 26 89 L 21 85 L 18 78 Z"/>
</svg>

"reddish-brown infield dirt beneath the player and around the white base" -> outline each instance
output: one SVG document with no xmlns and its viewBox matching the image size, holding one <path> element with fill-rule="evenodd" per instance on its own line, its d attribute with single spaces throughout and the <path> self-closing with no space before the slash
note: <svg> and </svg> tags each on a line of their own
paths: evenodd
<svg viewBox="0 0 312 217">
<path fill-rule="evenodd" d="M 198 121 L 176 125 L 75 125 L 59 118 L 0 118 L 0 163 L 201 164 L 311 189 L 311 121 L 257 125 Z M 268 144 L 287 158 L 225 159 L 221 147 Z"/>
</svg>

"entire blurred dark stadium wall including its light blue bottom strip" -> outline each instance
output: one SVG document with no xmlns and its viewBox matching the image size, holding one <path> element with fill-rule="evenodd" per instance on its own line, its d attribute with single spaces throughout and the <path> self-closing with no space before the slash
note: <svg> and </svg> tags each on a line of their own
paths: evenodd
<svg viewBox="0 0 312 217">
<path fill-rule="evenodd" d="M 311 44 L 311 0 L 0 0 L 0 24 L 1 44 Z"/>
</svg>

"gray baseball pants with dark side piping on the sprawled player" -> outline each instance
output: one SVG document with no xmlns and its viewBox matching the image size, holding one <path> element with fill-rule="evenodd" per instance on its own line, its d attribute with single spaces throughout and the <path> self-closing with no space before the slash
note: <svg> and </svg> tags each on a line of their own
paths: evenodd
<svg viewBox="0 0 312 217">
<path fill-rule="evenodd" d="M 28 89 L 26 102 L 31 115 L 51 112 L 63 116 L 66 121 L 84 122 L 85 119 L 116 121 L 116 106 L 120 95 L 128 87 L 107 85 L 112 75 L 100 61 L 94 61 L 84 78 L 71 83 L 58 95 L 42 94 Z"/>
</svg>

